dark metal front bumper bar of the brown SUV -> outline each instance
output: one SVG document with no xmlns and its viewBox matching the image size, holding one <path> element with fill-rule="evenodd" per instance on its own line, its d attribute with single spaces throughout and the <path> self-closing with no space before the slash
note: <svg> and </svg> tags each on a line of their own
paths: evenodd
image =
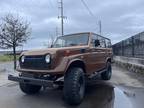
<svg viewBox="0 0 144 108">
<path fill-rule="evenodd" d="M 54 84 L 54 81 L 51 80 L 43 80 L 38 78 L 29 78 L 29 77 L 13 76 L 13 75 L 8 75 L 8 80 L 16 81 L 20 83 L 32 84 L 32 85 L 48 86 L 48 87 L 53 87 Z"/>
</svg>

